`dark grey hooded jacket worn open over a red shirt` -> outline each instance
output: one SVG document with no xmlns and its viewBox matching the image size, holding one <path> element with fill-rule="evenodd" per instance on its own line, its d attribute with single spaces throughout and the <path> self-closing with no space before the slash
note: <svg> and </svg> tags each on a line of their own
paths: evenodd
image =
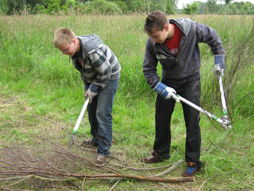
<svg viewBox="0 0 254 191">
<path fill-rule="evenodd" d="M 222 42 L 216 31 L 204 24 L 190 19 L 171 19 L 176 24 L 182 37 L 177 56 L 170 54 L 166 45 L 147 40 L 143 63 L 143 73 L 151 88 L 160 81 L 157 74 L 157 63 L 162 65 L 162 81 L 181 84 L 188 80 L 199 79 L 200 51 L 198 43 L 208 44 L 214 55 L 224 54 Z"/>
</svg>

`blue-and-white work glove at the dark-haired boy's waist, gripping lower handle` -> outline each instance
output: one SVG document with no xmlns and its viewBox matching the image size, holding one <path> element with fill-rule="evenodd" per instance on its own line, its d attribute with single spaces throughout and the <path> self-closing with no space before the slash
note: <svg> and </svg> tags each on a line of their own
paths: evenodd
<svg viewBox="0 0 254 191">
<path fill-rule="evenodd" d="M 166 86 L 165 84 L 163 84 L 162 82 L 159 82 L 154 88 L 153 90 L 155 90 L 156 92 L 158 92 L 163 98 L 165 99 L 169 99 L 169 98 L 173 98 L 175 99 L 177 102 L 179 102 L 179 98 L 176 96 L 176 91 L 173 88 L 170 88 L 168 86 Z"/>
</svg>

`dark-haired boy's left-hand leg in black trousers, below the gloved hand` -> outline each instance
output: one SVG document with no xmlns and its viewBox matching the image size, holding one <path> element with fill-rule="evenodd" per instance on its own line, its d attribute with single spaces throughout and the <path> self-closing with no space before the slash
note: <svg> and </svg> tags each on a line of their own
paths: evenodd
<svg viewBox="0 0 254 191">
<path fill-rule="evenodd" d="M 168 159 L 170 157 L 170 121 L 174 106 L 174 99 L 164 99 L 160 95 L 157 96 L 155 113 L 156 135 L 153 149 L 154 152 L 159 154 L 163 159 Z"/>
</svg>

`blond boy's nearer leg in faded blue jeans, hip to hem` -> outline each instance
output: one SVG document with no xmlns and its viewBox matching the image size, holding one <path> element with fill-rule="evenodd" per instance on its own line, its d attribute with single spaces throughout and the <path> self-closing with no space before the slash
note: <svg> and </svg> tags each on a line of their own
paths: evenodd
<svg viewBox="0 0 254 191">
<path fill-rule="evenodd" d="M 112 107 L 119 80 L 110 80 L 97 96 L 96 117 L 98 121 L 98 150 L 102 155 L 109 155 L 112 144 Z"/>
</svg>

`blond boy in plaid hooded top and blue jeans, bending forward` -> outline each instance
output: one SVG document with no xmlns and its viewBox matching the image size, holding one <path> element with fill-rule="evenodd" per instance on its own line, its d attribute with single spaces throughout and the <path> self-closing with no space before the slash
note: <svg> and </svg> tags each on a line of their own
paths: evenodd
<svg viewBox="0 0 254 191">
<path fill-rule="evenodd" d="M 70 29 L 55 31 L 54 45 L 69 55 L 84 82 L 89 98 L 88 116 L 92 138 L 83 143 L 96 146 L 97 162 L 104 163 L 112 144 L 112 107 L 121 66 L 112 50 L 97 35 L 76 36 Z"/>
</svg>

